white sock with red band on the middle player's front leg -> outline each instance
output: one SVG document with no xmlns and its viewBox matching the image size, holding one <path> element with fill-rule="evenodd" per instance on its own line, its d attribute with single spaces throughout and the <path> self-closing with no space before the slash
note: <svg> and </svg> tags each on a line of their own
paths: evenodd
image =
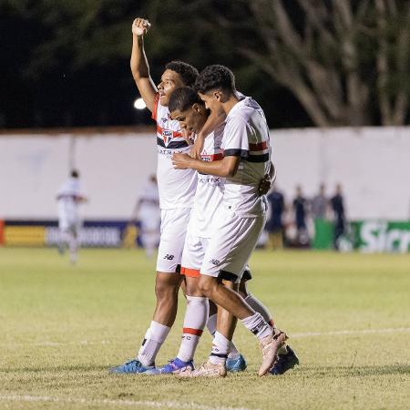
<svg viewBox="0 0 410 410">
<path fill-rule="evenodd" d="M 183 362 L 193 359 L 200 335 L 205 329 L 210 314 L 208 298 L 187 295 L 187 311 L 185 312 L 182 341 L 177 357 Z"/>
</svg>

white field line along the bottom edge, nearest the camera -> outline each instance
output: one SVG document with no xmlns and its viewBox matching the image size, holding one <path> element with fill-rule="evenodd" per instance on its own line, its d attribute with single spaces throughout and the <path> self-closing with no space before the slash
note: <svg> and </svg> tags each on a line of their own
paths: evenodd
<svg viewBox="0 0 410 410">
<path fill-rule="evenodd" d="M 211 407 L 209 405 L 197 405 L 195 403 L 179 402 L 155 402 L 149 400 L 110 400 L 110 399 L 86 399 L 79 397 L 49 397 L 36 395 L 0 395 L 0 402 L 42 402 L 60 404 L 82 405 L 124 405 L 128 407 L 152 407 L 152 408 L 187 408 L 193 410 L 250 410 L 245 407 Z"/>
</svg>

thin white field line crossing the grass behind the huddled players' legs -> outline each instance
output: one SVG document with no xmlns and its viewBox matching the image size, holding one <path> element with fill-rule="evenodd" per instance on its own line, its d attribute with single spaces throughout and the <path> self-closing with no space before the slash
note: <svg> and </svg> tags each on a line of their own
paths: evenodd
<svg viewBox="0 0 410 410">
<path fill-rule="evenodd" d="M 344 335 L 360 335 L 360 334 L 381 334 L 381 333 L 410 333 L 410 327 L 395 327 L 387 329 L 364 329 L 364 330 L 341 330 L 332 332 L 306 332 L 306 333 L 290 333 L 289 336 L 292 339 L 301 339 L 303 337 L 320 337 L 320 336 L 344 336 Z M 101 341 L 87 341 L 80 342 L 37 342 L 37 343 L 0 343 L 0 346 L 39 346 L 39 347 L 58 347 L 71 345 L 96 345 L 96 344 L 113 344 L 117 342 L 110 342 L 109 340 Z M 119 343 L 119 342 L 118 342 Z"/>
</svg>

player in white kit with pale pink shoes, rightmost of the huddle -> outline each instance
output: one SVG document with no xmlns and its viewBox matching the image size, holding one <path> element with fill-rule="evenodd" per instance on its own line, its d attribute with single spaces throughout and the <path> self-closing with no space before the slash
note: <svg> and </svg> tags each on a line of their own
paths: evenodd
<svg viewBox="0 0 410 410">
<path fill-rule="evenodd" d="M 261 342 L 262 363 L 258 374 L 272 370 L 286 334 L 256 313 L 237 292 L 221 280 L 240 282 L 247 261 L 265 224 L 267 203 L 259 193 L 259 182 L 271 167 L 269 128 L 261 107 L 251 97 L 241 98 L 235 89 L 231 70 L 206 67 L 195 85 L 211 111 L 226 114 L 220 148 L 223 159 L 203 161 L 174 154 L 176 169 L 196 169 L 200 173 L 226 178 L 222 206 L 212 219 L 212 236 L 200 267 L 199 292 L 220 305 L 254 333 Z M 181 118 L 179 118 L 181 119 Z M 220 323 L 217 328 L 219 331 Z M 213 360 L 193 370 L 187 366 L 182 377 L 223 376 L 229 349 L 228 338 L 214 338 Z"/>
</svg>

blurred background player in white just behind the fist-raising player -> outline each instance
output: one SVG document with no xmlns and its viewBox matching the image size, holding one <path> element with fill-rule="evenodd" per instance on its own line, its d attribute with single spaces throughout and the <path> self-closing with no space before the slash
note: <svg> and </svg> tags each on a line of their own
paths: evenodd
<svg viewBox="0 0 410 410">
<path fill-rule="evenodd" d="M 142 246 L 147 256 L 152 258 L 159 243 L 159 226 L 161 222 L 158 183 L 155 175 L 149 177 L 132 211 L 130 223 L 135 225 L 137 220 L 140 223 L 139 236 Z"/>
</svg>

